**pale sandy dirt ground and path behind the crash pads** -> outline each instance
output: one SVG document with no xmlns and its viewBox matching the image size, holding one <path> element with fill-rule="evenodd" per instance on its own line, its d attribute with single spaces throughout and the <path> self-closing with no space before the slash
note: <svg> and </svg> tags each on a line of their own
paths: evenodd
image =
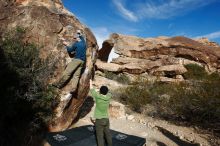
<svg viewBox="0 0 220 146">
<path fill-rule="evenodd" d="M 74 127 L 92 124 L 92 112 L 80 119 Z M 147 146 L 211 146 L 208 136 L 195 132 L 193 128 L 176 126 L 167 121 L 144 117 L 139 114 L 124 118 L 110 118 L 110 127 L 129 135 L 146 138 Z"/>
</svg>

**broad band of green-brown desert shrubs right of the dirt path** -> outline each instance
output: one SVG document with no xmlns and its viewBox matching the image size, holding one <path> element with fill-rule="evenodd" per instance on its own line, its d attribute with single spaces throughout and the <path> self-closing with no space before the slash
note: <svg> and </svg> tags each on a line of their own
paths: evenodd
<svg viewBox="0 0 220 146">
<path fill-rule="evenodd" d="M 192 75 L 194 76 L 194 75 Z M 161 83 L 136 80 L 119 89 L 119 99 L 133 110 L 146 105 L 155 107 L 147 113 L 170 121 L 184 121 L 193 125 L 217 127 L 220 121 L 220 78 L 218 73 L 206 75 L 206 80 L 181 83 Z"/>
</svg>

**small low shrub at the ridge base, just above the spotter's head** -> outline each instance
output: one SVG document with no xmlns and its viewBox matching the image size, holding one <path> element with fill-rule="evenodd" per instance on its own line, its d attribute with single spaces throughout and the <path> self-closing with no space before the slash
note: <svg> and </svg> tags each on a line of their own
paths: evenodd
<svg viewBox="0 0 220 146">
<path fill-rule="evenodd" d="M 110 71 L 105 71 L 104 74 L 106 78 L 117 81 L 119 83 L 122 83 L 122 84 L 130 83 L 129 77 L 127 77 L 125 74 L 115 74 Z"/>
</svg>

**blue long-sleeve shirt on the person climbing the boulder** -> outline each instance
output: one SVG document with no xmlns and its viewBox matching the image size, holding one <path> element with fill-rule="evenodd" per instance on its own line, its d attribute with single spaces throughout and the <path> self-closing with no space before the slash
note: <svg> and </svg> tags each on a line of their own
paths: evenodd
<svg viewBox="0 0 220 146">
<path fill-rule="evenodd" d="M 82 36 L 79 36 L 81 41 L 73 43 L 71 46 L 67 46 L 68 53 L 75 51 L 75 58 L 82 61 L 86 61 L 86 41 Z"/>
</svg>

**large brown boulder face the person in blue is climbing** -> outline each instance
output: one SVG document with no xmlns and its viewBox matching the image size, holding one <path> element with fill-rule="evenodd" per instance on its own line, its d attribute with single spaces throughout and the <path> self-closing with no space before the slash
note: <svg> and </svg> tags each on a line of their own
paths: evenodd
<svg viewBox="0 0 220 146">
<path fill-rule="evenodd" d="M 48 125 L 50 131 L 67 129 L 77 116 L 89 91 L 89 79 L 97 50 L 94 35 L 63 7 L 61 0 L 0 0 L 0 24 L 0 35 L 16 27 L 25 28 L 26 40 L 24 41 L 42 46 L 40 48 L 42 59 L 53 56 L 50 62 L 56 62 L 56 70 L 54 76 L 48 78 L 48 83 L 59 79 L 71 60 L 60 38 L 71 41 L 76 30 L 80 29 L 84 32 L 87 42 L 87 61 L 79 81 L 78 92 L 70 100 L 68 98 L 66 100 L 65 96 L 71 90 L 71 85 L 61 90 L 60 104 L 55 109 L 56 116 Z M 64 109 L 63 106 L 66 104 L 68 107 Z"/>
</svg>

